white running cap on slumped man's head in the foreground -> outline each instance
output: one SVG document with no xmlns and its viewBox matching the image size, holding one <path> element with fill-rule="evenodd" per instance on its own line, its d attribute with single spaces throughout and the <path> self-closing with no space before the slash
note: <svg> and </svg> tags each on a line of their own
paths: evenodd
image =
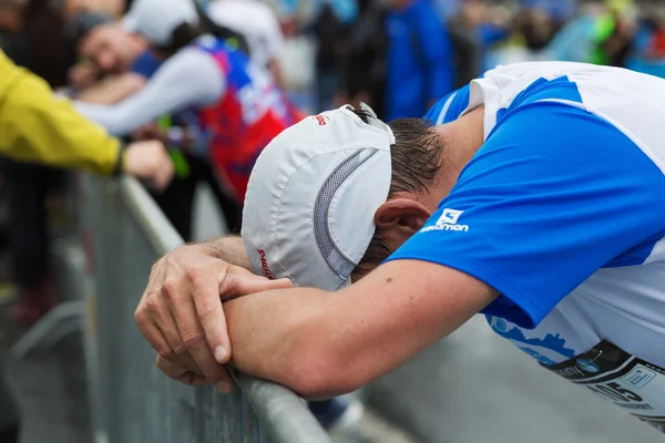
<svg viewBox="0 0 665 443">
<path fill-rule="evenodd" d="M 369 106 L 309 116 L 279 134 L 252 171 L 242 235 L 252 268 L 296 286 L 349 282 L 388 198 L 395 136 Z"/>
</svg>

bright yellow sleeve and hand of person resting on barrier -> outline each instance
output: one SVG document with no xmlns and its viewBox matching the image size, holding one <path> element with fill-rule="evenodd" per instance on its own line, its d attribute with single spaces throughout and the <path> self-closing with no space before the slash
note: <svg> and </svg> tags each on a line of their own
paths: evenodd
<svg viewBox="0 0 665 443">
<path fill-rule="evenodd" d="M 57 96 L 39 76 L 0 51 L 0 155 L 104 175 L 134 175 L 157 190 L 173 178 L 173 163 L 157 141 L 123 146 Z"/>
</svg>

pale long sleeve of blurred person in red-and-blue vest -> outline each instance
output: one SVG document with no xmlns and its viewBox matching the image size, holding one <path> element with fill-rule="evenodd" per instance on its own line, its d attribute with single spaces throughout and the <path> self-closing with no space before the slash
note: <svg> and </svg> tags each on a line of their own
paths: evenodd
<svg viewBox="0 0 665 443">
<path fill-rule="evenodd" d="M 126 135 L 154 121 L 190 106 L 218 100 L 226 81 L 213 58 L 190 48 L 167 60 L 136 94 L 114 105 L 76 102 L 76 110 L 114 135 Z"/>
</svg>

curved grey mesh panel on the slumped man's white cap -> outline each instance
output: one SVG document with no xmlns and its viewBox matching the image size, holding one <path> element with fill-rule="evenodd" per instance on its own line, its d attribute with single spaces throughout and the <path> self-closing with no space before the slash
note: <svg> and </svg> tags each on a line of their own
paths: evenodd
<svg viewBox="0 0 665 443">
<path fill-rule="evenodd" d="M 341 279 L 346 280 L 354 268 L 358 265 L 345 256 L 332 241 L 330 228 L 328 226 L 328 213 L 330 202 L 339 186 L 369 157 L 375 155 L 378 150 L 362 148 L 355 152 L 351 156 L 341 162 L 330 174 L 328 179 L 321 186 L 316 199 L 314 213 L 314 231 L 318 247 L 326 259 L 326 262 Z"/>
</svg>

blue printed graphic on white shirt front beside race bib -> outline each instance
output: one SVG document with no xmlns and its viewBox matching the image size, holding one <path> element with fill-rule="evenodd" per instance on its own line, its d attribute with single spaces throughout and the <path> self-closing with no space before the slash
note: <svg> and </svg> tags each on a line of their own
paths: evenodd
<svg viewBox="0 0 665 443">
<path fill-rule="evenodd" d="M 521 328 L 513 324 L 509 324 L 509 322 L 504 319 L 493 316 L 485 317 L 494 332 L 497 332 L 499 336 L 505 339 L 515 342 L 515 346 L 518 346 L 518 348 L 520 348 L 522 351 L 526 352 L 529 356 L 533 357 L 534 359 L 536 359 L 545 365 L 555 364 L 556 362 L 551 358 L 544 356 L 542 352 L 539 352 L 536 349 L 534 349 L 535 347 L 554 351 L 565 357 L 566 359 L 572 359 L 573 357 L 575 357 L 575 351 L 565 347 L 565 340 L 559 333 L 548 333 L 544 338 L 526 338 L 524 336 L 524 332 L 522 332 Z M 519 343 L 524 343 L 534 348 L 522 347 L 519 346 Z"/>
</svg>

